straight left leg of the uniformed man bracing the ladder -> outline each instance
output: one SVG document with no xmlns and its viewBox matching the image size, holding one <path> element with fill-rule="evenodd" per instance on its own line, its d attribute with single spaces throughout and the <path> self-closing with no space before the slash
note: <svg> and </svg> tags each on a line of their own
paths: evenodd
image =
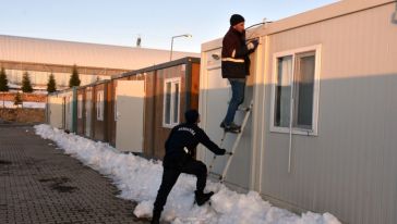
<svg viewBox="0 0 397 224">
<path fill-rule="evenodd" d="M 156 201 L 154 203 L 152 223 L 159 223 L 163 208 L 167 202 L 167 197 L 171 191 L 173 185 L 176 184 L 180 172 L 178 170 L 166 167 L 164 169 L 161 185 L 158 189 Z"/>
</svg>

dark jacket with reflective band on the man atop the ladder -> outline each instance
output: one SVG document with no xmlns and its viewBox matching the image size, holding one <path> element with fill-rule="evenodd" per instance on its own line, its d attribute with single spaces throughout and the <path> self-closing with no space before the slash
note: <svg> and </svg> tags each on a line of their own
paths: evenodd
<svg viewBox="0 0 397 224">
<path fill-rule="evenodd" d="M 226 33 L 221 49 L 221 75 L 224 78 L 245 78 L 250 75 L 249 50 L 245 43 L 245 33 L 239 33 L 232 27 Z"/>
</svg>

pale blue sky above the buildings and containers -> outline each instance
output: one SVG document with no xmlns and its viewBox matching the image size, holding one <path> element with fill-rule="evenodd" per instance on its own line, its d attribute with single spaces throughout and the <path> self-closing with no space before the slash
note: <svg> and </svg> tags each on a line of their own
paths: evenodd
<svg viewBox="0 0 397 224">
<path fill-rule="evenodd" d="M 233 13 L 245 26 L 277 21 L 337 0 L 3 0 L 0 34 L 80 42 L 200 52 L 201 43 L 222 37 Z"/>
</svg>

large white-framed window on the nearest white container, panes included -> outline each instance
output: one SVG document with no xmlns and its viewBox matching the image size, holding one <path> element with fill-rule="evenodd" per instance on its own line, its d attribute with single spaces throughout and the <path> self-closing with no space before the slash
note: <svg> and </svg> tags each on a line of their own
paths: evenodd
<svg viewBox="0 0 397 224">
<path fill-rule="evenodd" d="M 317 134 L 318 54 L 314 48 L 275 55 L 270 130 Z"/>
</svg>

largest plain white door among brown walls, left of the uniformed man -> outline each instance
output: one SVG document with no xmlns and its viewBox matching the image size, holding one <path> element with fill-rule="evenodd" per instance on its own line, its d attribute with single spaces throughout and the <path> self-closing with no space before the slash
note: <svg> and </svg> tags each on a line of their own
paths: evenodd
<svg viewBox="0 0 397 224">
<path fill-rule="evenodd" d="M 142 152 L 144 80 L 118 80 L 116 100 L 116 148 Z"/>
</svg>

